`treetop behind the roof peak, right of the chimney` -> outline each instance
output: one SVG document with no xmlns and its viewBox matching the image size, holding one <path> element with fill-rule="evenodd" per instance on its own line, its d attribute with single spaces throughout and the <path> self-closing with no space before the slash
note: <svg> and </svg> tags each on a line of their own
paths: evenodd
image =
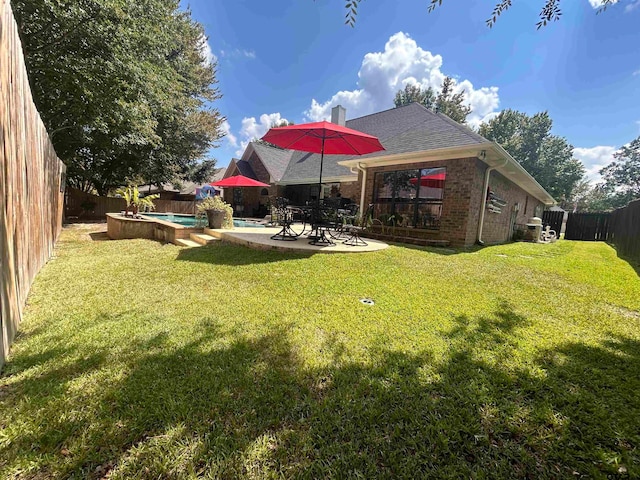
<svg viewBox="0 0 640 480">
<path fill-rule="evenodd" d="M 464 91 L 453 93 L 456 81 L 451 77 L 446 77 L 442 82 L 442 87 L 436 96 L 433 88 L 422 90 L 420 85 L 409 85 L 404 90 L 398 90 L 393 103 L 396 107 L 417 102 L 430 110 L 444 113 L 452 120 L 465 123 L 467 116 L 471 113 L 471 107 L 464 105 Z"/>
</svg>

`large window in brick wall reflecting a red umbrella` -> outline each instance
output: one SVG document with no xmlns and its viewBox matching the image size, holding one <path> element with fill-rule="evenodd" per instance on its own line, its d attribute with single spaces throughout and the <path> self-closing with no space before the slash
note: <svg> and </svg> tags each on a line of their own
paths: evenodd
<svg viewBox="0 0 640 480">
<path fill-rule="evenodd" d="M 374 177 L 374 217 L 385 225 L 440 228 L 445 168 L 379 172 Z"/>
</svg>

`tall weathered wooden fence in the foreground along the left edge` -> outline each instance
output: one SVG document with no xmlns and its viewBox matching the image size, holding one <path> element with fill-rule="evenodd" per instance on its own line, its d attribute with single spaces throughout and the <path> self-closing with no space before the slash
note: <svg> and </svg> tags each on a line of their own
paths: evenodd
<svg viewBox="0 0 640 480">
<path fill-rule="evenodd" d="M 18 28 L 0 0 L 0 367 L 62 228 L 64 164 L 33 103 Z"/>
</svg>

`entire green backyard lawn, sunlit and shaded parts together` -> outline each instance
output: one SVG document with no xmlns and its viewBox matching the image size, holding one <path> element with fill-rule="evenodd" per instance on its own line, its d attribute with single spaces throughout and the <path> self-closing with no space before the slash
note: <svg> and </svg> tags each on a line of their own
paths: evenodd
<svg viewBox="0 0 640 480">
<path fill-rule="evenodd" d="M 605 244 L 88 232 L 63 232 L 0 377 L 0 478 L 640 477 L 640 277 Z"/>
</svg>

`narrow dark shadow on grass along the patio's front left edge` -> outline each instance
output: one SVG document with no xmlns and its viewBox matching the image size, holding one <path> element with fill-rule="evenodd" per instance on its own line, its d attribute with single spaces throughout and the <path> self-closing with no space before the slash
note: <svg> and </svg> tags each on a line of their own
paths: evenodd
<svg viewBox="0 0 640 480">
<path fill-rule="evenodd" d="M 176 259 L 183 262 L 212 263 L 216 265 L 253 265 L 300 260 L 311 256 L 312 254 L 306 253 L 254 250 L 248 247 L 223 243 L 205 247 L 183 248 Z"/>
</svg>

